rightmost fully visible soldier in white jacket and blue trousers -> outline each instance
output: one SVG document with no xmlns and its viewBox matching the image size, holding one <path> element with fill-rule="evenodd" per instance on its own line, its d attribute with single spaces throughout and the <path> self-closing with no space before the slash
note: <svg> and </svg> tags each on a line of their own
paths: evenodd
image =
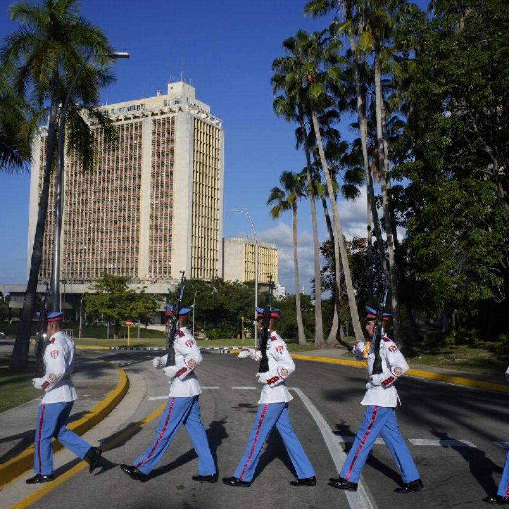
<svg viewBox="0 0 509 509">
<path fill-rule="evenodd" d="M 376 311 L 370 307 L 367 307 L 367 310 L 366 331 L 372 337 Z M 383 320 L 387 321 L 389 315 L 389 313 L 384 313 Z M 408 370 L 408 364 L 398 347 L 382 330 L 382 341 L 380 342 L 382 373 L 373 375 L 375 362 L 373 348 L 374 342 L 371 343 L 367 355 L 367 372 L 370 379 L 367 381 L 367 391 L 361 402 L 361 405 L 366 405 L 364 419 L 340 475 L 331 477 L 328 484 L 343 490 L 357 491 L 359 477 L 367 455 L 380 435 L 403 477 L 403 487 L 396 488 L 394 491 L 398 493 L 419 491 L 423 488 L 422 481 L 410 456 L 405 439 L 401 436 L 394 412 L 394 407 L 400 402 L 394 383 Z M 360 342 L 353 349 L 355 357 L 359 360 L 364 359 L 364 351 L 364 344 Z"/>
</svg>

